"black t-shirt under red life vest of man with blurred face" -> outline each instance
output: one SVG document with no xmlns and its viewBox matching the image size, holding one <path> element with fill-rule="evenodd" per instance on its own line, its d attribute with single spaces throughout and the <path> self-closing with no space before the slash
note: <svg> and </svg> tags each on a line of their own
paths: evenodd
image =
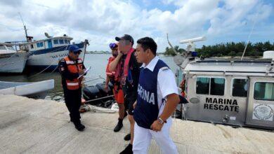
<svg viewBox="0 0 274 154">
<path fill-rule="evenodd" d="M 125 94 L 136 94 L 137 95 L 137 89 L 138 89 L 138 83 L 139 83 L 139 76 L 140 76 L 140 67 L 142 66 L 141 63 L 137 62 L 137 59 L 135 57 L 135 52 L 132 52 L 131 59 L 129 59 L 129 69 L 131 69 L 131 76 L 133 83 L 129 83 L 129 80 L 126 79 L 126 84 L 123 86 L 123 91 Z M 126 55 L 122 56 L 122 68 L 124 69 L 124 61 L 126 59 Z"/>
</svg>

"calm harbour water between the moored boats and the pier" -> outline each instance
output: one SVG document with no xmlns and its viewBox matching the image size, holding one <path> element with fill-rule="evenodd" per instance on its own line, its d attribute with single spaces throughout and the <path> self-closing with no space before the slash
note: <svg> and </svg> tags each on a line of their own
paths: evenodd
<svg viewBox="0 0 274 154">
<path fill-rule="evenodd" d="M 91 66 L 91 70 L 87 73 L 85 80 L 86 85 L 95 85 L 96 83 L 103 83 L 105 80 L 105 66 L 107 65 L 107 59 L 111 55 L 108 54 L 86 54 L 84 64 L 86 68 Z M 164 60 L 174 73 L 178 66 L 173 62 L 173 57 L 159 56 L 160 59 Z M 61 85 L 60 73 L 58 72 L 32 72 L 24 73 L 22 75 L 0 75 L 0 80 L 12 81 L 12 82 L 35 82 L 41 80 L 55 80 L 55 88 L 48 92 L 46 99 L 53 99 L 56 101 L 63 100 L 63 88 Z M 91 80 L 91 81 L 89 81 Z"/>
</svg>

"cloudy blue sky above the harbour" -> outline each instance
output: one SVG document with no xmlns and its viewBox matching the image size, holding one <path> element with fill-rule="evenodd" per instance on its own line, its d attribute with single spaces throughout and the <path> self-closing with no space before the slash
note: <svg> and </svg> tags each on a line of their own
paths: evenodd
<svg viewBox="0 0 274 154">
<path fill-rule="evenodd" d="M 230 41 L 274 42 L 273 0 L 1 0 L 0 42 L 25 41 L 22 19 L 34 40 L 71 36 L 89 40 L 88 50 L 110 50 L 115 36 L 130 34 L 135 44 L 149 36 L 157 52 L 179 41 L 205 36 L 197 47 Z M 252 31 L 253 29 L 253 31 Z M 252 31 L 252 32 L 251 32 Z"/>
</svg>

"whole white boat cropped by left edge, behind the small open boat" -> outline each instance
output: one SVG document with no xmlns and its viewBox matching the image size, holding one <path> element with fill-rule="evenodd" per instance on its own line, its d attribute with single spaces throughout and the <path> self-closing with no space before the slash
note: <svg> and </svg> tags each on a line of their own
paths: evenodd
<svg viewBox="0 0 274 154">
<path fill-rule="evenodd" d="M 0 43 L 0 72 L 22 73 L 25 69 L 28 53 L 18 52 L 11 43 Z"/>
</svg>

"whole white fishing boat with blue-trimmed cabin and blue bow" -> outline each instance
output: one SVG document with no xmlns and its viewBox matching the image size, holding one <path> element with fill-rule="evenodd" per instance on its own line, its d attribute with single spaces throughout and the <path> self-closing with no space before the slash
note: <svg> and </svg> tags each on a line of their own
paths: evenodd
<svg viewBox="0 0 274 154">
<path fill-rule="evenodd" d="M 46 34 L 46 33 L 45 33 Z M 67 48 L 72 44 L 73 38 L 69 36 L 51 37 L 46 34 L 45 39 L 32 41 L 30 36 L 27 36 L 26 43 L 20 43 L 20 50 L 30 52 L 30 57 L 27 60 L 27 66 L 31 69 L 46 69 L 46 71 L 55 70 L 60 59 L 68 55 Z M 79 55 L 84 59 L 86 45 L 88 41 L 76 43 L 83 52 Z"/>
</svg>

